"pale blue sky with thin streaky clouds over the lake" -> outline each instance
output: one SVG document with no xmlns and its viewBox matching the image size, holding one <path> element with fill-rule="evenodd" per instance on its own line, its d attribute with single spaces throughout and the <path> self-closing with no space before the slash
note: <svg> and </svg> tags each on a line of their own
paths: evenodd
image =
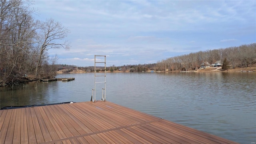
<svg viewBox="0 0 256 144">
<path fill-rule="evenodd" d="M 51 49 L 58 64 L 153 64 L 191 52 L 256 42 L 256 1 L 36 0 L 35 19 L 70 30 L 70 50 Z"/>
</svg>

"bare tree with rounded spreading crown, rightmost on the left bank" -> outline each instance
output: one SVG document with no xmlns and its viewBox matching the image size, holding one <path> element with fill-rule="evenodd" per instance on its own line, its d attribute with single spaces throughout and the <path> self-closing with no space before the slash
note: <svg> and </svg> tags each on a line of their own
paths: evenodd
<svg viewBox="0 0 256 144">
<path fill-rule="evenodd" d="M 40 35 L 38 36 L 38 44 L 40 46 L 40 52 L 36 61 L 35 78 L 40 76 L 40 66 L 42 64 L 43 54 L 51 48 L 64 48 L 65 50 L 70 49 L 70 43 L 63 40 L 69 30 L 62 26 L 60 22 L 55 22 L 52 18 L 42 23 Z M 62 43 L 60 43 L 62 42 Z"/>
</svg>

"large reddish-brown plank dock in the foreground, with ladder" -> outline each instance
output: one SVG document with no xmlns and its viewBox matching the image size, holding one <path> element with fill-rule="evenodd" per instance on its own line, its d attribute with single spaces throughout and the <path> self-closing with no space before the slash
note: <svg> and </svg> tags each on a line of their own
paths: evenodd
<svg viewBox="0 0 256 144">
<path fill-rule="evenodd" d="M 0 144 L 235 144 L 112 102 L 0 110 Z"/>
</svg>

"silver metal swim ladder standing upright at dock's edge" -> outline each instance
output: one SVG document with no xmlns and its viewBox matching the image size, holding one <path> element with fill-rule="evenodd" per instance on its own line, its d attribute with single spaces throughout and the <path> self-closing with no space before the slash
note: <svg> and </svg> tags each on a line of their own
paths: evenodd
<svg viewBox="0 0 256 144">
<path fill-rule="evenodd" d="M 104 62 L 96 62 L 96 57 L 104 57 Z M 104 64 L 104 68 L 98 68 L 103 66 L 96 66 L 96 64 Z M 104 70 L 104 75 L 102 73 L 96 73 L 97 70 Z M 104 82 L 97 82 L 96 77 L 103 77 Z M 92 89 L 92 102 L 96 102 L 96 84 L 104 83 L 104 88 L 102 88 L 102 101 L 106 101 L 106 56 L 94 55 L 94 88 Z"/>
</svg>

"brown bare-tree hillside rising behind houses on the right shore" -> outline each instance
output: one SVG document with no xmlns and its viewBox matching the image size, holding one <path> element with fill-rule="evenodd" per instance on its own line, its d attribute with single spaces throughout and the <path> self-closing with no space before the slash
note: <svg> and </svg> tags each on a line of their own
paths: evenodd
<svg viewBox="0 0 256 144">
<path fill-rule="evenodd" d="M 158 61 L 155 69 L 159 71 L 188 71 L 200 68 L 202 62 L 214 64 L 216 61 L 224 61 L 226 58 L 230 68 L 247 68 L 256 63 L 256 43 L 244 44 L 229 48 L 199 51 L 182 56 L 175 56 Z"/>
</svg>

